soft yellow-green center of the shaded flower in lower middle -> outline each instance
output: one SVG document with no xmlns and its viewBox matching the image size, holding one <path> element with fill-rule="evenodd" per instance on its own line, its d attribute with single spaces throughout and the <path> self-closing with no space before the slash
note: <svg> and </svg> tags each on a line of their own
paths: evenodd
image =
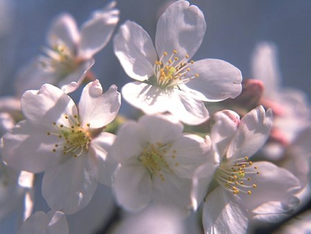
<svg viewBox="0 0 311 234">
<path fill-rule="evenodd" d="M 148 144 L 142 151 L 142 154 L 138 156 L 138 161 L 140 161 L 140 163 L 142 163 L 142 165 L 147 168 L 151 178 L 154 175 L 158 175 L 160 179 L 164 181 L 165 178 L 163 174 L 160 173 L 161 170 L 166 169 L 170 172 L 173 172 L 165 160 L 165 156 L 169 148 L 171 148 L 171 144 Z"/>
</svg>

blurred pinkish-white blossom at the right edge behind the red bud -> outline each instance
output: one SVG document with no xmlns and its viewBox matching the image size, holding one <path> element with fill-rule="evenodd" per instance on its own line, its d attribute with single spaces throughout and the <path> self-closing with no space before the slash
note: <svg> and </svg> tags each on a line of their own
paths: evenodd
<svg viewBox="0 0 311 234">
<path fill-rule="evenodd" d="M 299 89 L 282 87 L 276 46 L 270 42 L 256 46 L 252 71 L 252 78 L 261 80 L 265 86 L 261 105 L 271 108 L 274 113 L 270 141 L 262 152 L 269 159 L 279 160 L 296 134 L 310 125 L 308 98 Z"/>
</svg>

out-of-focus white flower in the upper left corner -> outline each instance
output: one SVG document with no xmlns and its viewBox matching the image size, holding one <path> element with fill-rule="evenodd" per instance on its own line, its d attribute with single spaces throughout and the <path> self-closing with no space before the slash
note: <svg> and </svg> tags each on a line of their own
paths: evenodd
<svg viewBox="0 0 311 234">
<path fill-rule="evenodd" d="M 93 56 L 109 42 L 119 21 L 115 1 L 93 12 L 81 29 L 68 13 L 57 17 L 48 31 L 46 56 L 25 66 L 17 77 L 17 93 L 39 89 L 48 83 L 62 87 L 66 93 L 77 89 L 94 64 Z"/>
</svg>

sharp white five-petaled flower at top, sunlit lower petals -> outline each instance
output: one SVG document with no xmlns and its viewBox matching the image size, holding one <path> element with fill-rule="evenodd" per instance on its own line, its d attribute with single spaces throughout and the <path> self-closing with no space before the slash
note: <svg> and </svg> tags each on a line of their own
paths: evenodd
<svg viewBox="0 0 311 234">
<path fill-rule="evenodd" d="M 223 60 L 191 60 L 205 28 L 202 12 L 188 1 L 176 1 L 161 15 L 156 48 L 142 27 L 126 21 L 114 38 L 115 55 L 137 80 L 122 88 L 125 100 L 146 114 L 169 111 L 198 125 L 209 117 L 202 101 L 238 96 L 242 76 L 236 67 Z"/>
</svg>

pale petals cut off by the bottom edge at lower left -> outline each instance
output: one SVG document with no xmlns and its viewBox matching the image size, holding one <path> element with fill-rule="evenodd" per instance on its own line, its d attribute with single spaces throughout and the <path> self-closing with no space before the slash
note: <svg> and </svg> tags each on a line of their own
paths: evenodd
<svg viewBox="0 0 311 234">
<path fill-rule="evenodd" d="M 61 211 L 51 210 L 47 214 L 37 211 L 23 223 L 18 234 L 68 234 L 66 215 Z"/>
</svg>

